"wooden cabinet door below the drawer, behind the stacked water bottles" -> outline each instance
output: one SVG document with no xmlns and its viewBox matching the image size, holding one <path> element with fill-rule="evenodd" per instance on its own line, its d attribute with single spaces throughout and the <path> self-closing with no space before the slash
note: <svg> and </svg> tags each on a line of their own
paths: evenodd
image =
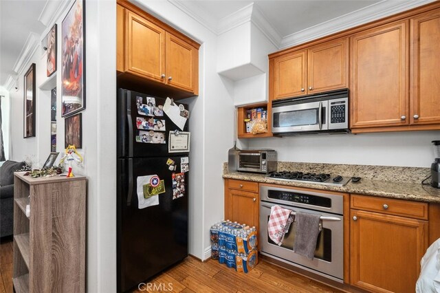
<svg viewBox="0 0 440 293">
<path fill-rule="evenodd" d="M 228 189 L 225 202 L 225 219 L 240 224 L 259 227 L 259 195 Z"/>
</svg>

